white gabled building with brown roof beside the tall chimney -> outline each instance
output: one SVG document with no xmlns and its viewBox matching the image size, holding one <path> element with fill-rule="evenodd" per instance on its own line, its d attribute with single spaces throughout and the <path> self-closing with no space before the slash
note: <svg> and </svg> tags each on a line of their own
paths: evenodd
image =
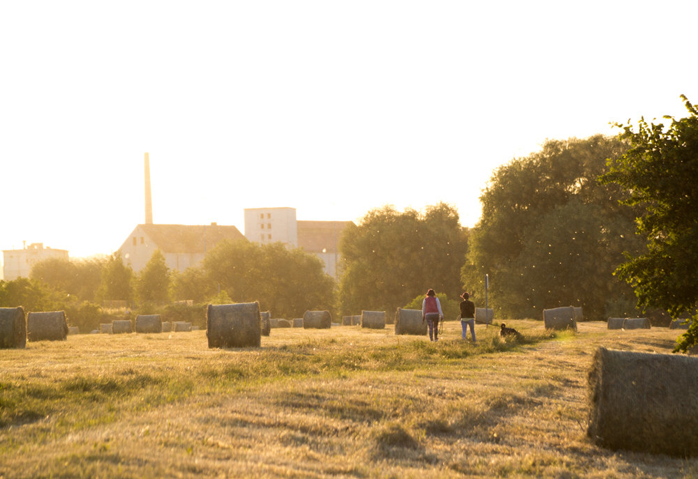
<svg viewBox="0 0 698 479">
<path fill-rule="evenodd" d="M 211 225 L 138 225 L 121 245 L 121 259 L 140 271 L 158 248 L 170 269 L 184 271 L 197 266 L 206 252 L 223 239 L 244 238 L 234 226 Z"/>
</svg>

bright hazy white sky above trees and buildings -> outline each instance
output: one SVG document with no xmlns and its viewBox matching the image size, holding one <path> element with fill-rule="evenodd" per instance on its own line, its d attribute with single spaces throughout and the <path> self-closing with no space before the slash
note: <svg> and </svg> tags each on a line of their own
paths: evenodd
<svg viewBox="0 0 698 479">
<path fill-rule="evenodd" d="M 546 138 L 685 116 L 697 2 L 0 3 L 0 249 L 243 208 L 455 204 Z"/>
</svg>

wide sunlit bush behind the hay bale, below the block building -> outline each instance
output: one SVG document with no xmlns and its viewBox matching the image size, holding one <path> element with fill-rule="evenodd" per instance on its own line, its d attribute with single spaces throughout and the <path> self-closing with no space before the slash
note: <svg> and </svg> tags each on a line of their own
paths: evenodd
<svg viewBox="0 0 698 479">
<path fill-rule="evenodd" d="M 203 269 L 235 303 L 259 301 L 262 311 L 275 316 L 334 310 L 334 280 L 322 270 L 322 261 L 280 242 L 221 241 L 206 255 Z"/>
</svg>

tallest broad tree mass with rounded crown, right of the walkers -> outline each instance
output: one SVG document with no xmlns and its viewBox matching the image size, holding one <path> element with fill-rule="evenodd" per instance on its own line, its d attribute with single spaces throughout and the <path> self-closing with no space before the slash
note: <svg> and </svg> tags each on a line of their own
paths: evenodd
<svg viewBox="0 0 698 479">
<path fill-rule="evenodd" d="M 512 318 L 574 305 L 586 318 L 602 319 L 609 299 L 631 298 L 613 272 L 623 252 L 644 247 L 633 234 L 639 210 L 619 204 L 622 188 L 597 182 L 607 158 L 627 149 L 602 135 L 549 140 L 497 169 L 480 197 L 482 219 L 461 270 L 466 290 L 482 300 L 489 274 L 489 303 Z"/>
</svg>

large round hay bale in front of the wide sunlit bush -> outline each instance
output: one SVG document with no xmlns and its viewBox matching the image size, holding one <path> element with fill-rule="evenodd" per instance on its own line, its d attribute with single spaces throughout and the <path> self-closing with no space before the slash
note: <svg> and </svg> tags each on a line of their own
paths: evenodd
<svg viewBox="0 0 698 479">
<path fill-rule="evenodd" d="M 209 305 L 206 335 L 209 348 L 260 347 L 262 317 L 259 303 Z"/>
</svg>

